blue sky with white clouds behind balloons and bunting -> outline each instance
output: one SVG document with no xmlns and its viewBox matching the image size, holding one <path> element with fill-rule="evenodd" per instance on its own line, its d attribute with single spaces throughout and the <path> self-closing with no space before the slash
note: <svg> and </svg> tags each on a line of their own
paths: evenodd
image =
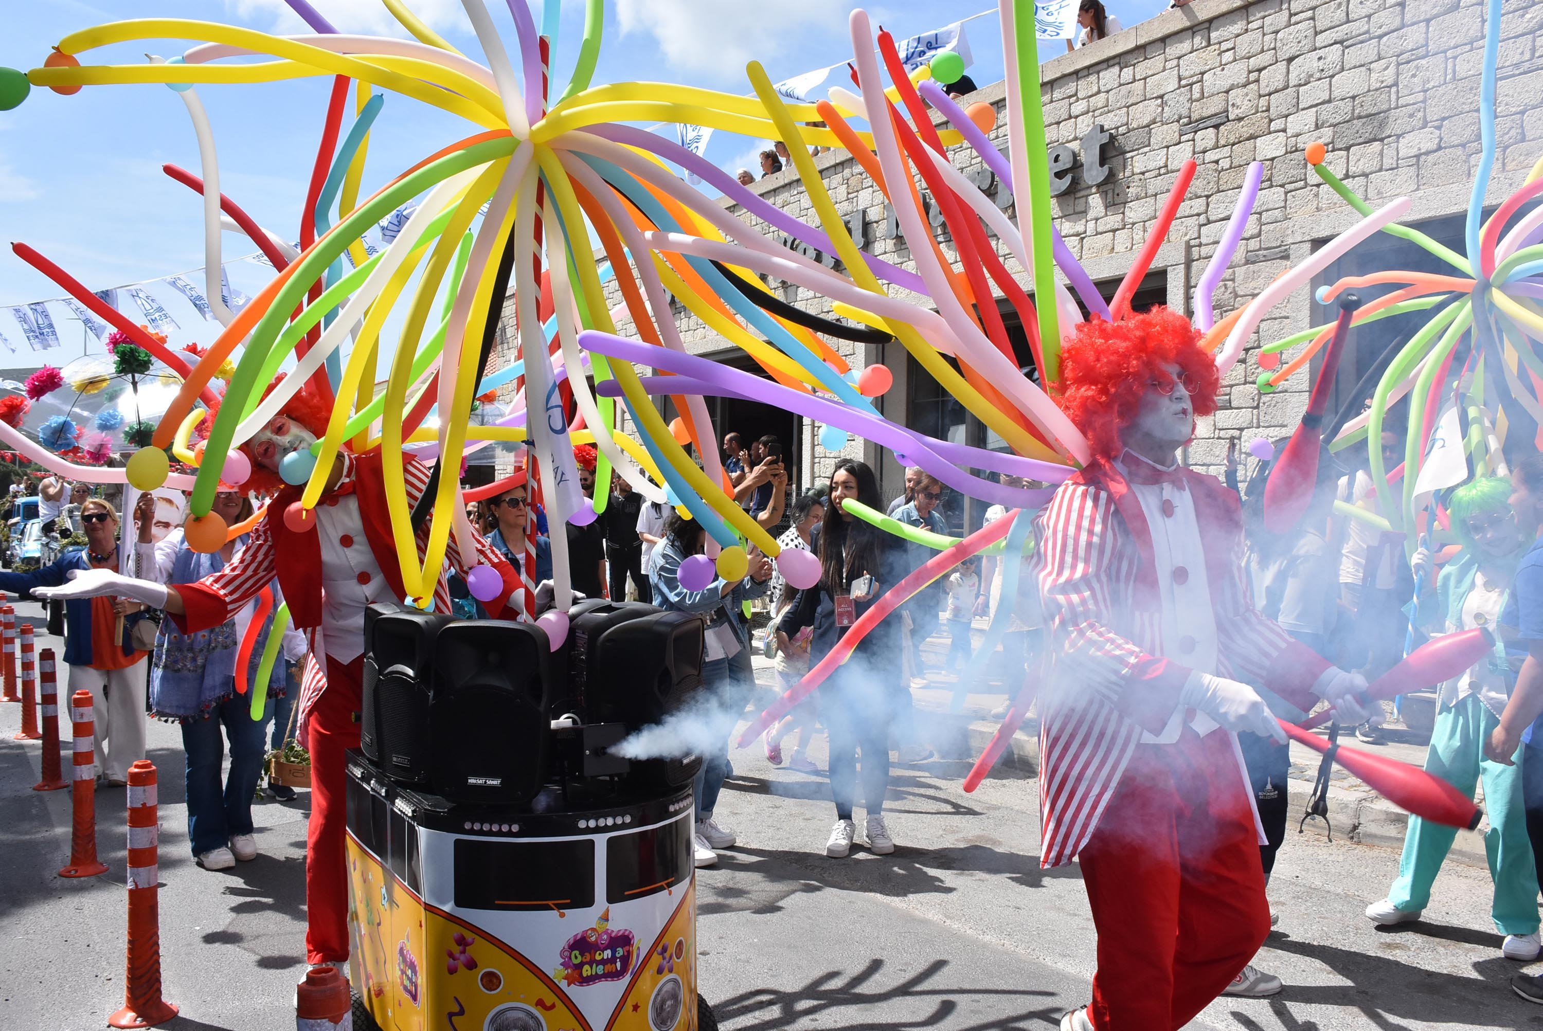
<svg viewBox="0 0 1543 1031">
<path fill-rule="evenodd" d="M 469 56 L 480 57 L 458 0 L 407 0 L 429 25 Z M 313 0 L 341 31 L 406 35 L 380 0 Z M 750 93 L 745 62 L 761 60 L 781 80 L 850 57 L 850 0 L 614 0 L 608 5 L 605 45 L 594 82 L 665 80 L 730 93 Z M 906 37 L 984 11 L 989 0 L 940 6 L 910 0 L 866 5 L 873 22 Z M 1129 26 L 1159 12 L 1165 0 L 1119 0 L 1111 11 Z M 512 22 L 492 0 L 506 46 L 517 52 Z M 540 22 L 540 0 L 534 0 Z M 946 12 L 943 12 L 946 11 Z M 775 14 L 773 14 L 775 12 Z M 49 0 L 14 5 L 0 37 L 0 65 L 32 68 L 68 32 L 125 19 L 207 19 L 262 31 L 302 32 L 282 0 Z M 563 5 L 554 66 L 566 79 L 577 54 L 583 5 Z M 995 15 L 967 25 L 975 66 L 984 85 L 1001 77 L 1001 40 Z M 93 51 L 86 63 L 139 63 L 143 54 L 171 57 L 191 43 L 159 40 Z M 1057 49 L 1051 49 L 1057 48 Z M 1060 52 L 1046 43 L 1046 54 Z M 245 86 L 201 86 L 219 150 L 224 191 L 262 225 L 296 238 L 299 207 L 321 131 L 329 79 Z M 387 96 L 370 136 L 364 191 L 421 156 L 468 136 L 468 123 L 415 100 Z M 764 140 L 719 131 L 707 156 L 733 170 L 756 168 Z M 182 102 L 160 85 L 96 86 L 71 97 L 34 90 L 14 111 L 0 111 L 0 239 L 25 241 L 52 258 L 89 289 L 160 278 L 201 267 L 201 199 L 168 179 L 165 162 L 198 173 L 198 147 Z M 253 250 L 227 233 L 225 258 Z M 233 273 L 238 289 L 253 293 L 265 269 Z M 0 252 L 0 306 L 59 296 L 9 247 Z M 216 326 L 202 323 L 181 296 L 156 296 L 182 324 L 173 343 L 207 343 Z M 57 309 L 56 309 L 57 319 Z M 46 352 L 52 364 L 80 353 L 82 330 L 60 324 L 65 347 Z M 0 313 L 0 332 L 22 352 L 0 353 L 0 364 L 26 364 L 20 327 Z M 100 350 L 100 347 L 96 347 Z"/>
</svg>

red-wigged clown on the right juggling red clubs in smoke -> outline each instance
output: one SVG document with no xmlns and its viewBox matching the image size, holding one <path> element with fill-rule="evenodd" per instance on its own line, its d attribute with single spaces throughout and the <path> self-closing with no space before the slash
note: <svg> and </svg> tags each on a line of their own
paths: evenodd
<svg viewBox="0 0 1543 1031">
<path fill-rule="evenodd" d="M 1182 315 L 1080 324 L 1062 407 L 1092 460 L 1035 522 L 1052 671 L 1040 691 L 1043 866 L 1077 857 L 1099 929 L 1065 1031 L 1182 1028 L 1270 931 L 1237 732 L 1285 741 L 1262 684 L 1364 718 L 1366 681 L 1248 600 L 1237 495 L 1182 468 L 1221 377 Z"/>
</svg>

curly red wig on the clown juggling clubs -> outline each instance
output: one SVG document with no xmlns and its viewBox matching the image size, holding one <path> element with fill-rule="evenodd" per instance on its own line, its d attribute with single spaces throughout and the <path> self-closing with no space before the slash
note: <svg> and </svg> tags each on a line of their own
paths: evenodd
<svg viewBox="0 0 1543 1031">
<path fill-rule="evenodd" d="M 1119 323 L 1096 318 L 1077 326 L 1077 338 L 1062 350 L 1058 401 L 1094 457 L 1120 454 L 1120 431 L 1136 418 L 1146 384 L 1171 378 L 1168 364 L 1194 383 L 1196 415 L 1216 411 L 1222 377 L 1199 341 L 1190 319 L 1162 306 Z"/>
</svg>

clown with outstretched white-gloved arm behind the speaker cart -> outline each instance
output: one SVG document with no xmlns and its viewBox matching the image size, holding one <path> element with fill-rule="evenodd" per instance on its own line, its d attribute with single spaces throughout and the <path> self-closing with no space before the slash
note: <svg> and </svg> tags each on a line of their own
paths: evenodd
<svg viewBox="0 0 1543 1031">
<path fill-rule="evenodd" d="M 292 520 L 284 517 L 285 509 L 299 500 L 302 488 L 284 483 L 278 475 L 279 465 L 289 454 L 316 443 L 327 429 L 329 412 L 327 401 L 309 387 L 302 389 L 242 445 L 252 460 L 252 475 L 241 489 L 272 497 L 267 516 L 252 529 L 247 545 L 219 573 L 196 583 L 162 586 L 111 570 L 93 570 L 57 588 L 59 597 L 114 594 L 145 602 L 165 610 L 177 630 L 188 634 L 231 619 L 278 577 L 290 619 L 310 642 L 298 738 L 310 750 L 312 764 L 310 826 L 306 835 L 306 952 L 313 965 L 344 963 L 349 958 L 344 752 L 360 747 L 364 610 L 375 603 L 400 605 L 406 597 L 387 520 L 380 449 L 364 454 L 339 451 L 315 519 L 292 526 Z M 430 469 L 412 455 L 403 457 L 403 466 L 407 505 L 414 506 L 429 486 Z M 429 525 L 423 523 L 417 532 L 420 562 L 427 542 Z M 494 619 L 518 617 L 518 608 L 509 600 L 522 590 L 520 576 L 475 531 L 474 554 L 461 554 L 452 536 L 446 557 L 461 576 L 475 565 L 492 566 L 503 577 L 503 591 L 486 602 L 488 613 Z M 443 570 L 432 605 L 438 613 L 452 611 Z"/>
</svg>

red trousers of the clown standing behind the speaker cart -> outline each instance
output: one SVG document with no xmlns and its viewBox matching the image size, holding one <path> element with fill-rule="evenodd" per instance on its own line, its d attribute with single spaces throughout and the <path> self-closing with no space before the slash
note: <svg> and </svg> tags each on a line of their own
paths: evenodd
<svg viewBox="0 0 1543 1031">
<path fill-rule="evenodd" d="M 327 690 L 310 710 L 310 826 L 306 829 L 306 962 L 349 958 L 349 769 L 360 747 L 364 656 L 327 659 Z"/>
</svg>

